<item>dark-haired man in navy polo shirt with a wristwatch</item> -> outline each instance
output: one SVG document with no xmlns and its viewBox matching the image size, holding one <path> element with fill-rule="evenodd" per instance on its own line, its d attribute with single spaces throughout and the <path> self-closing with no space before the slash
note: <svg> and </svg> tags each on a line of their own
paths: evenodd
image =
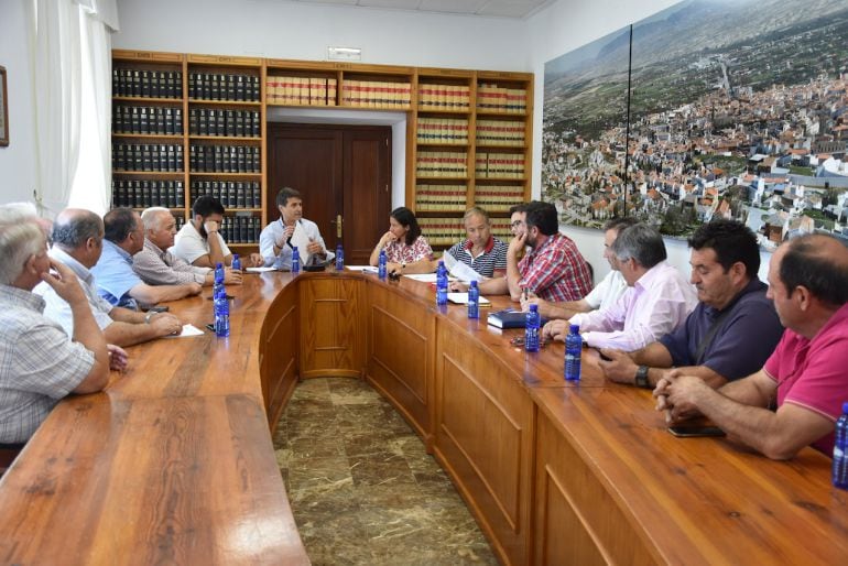
<svg viewBox="0 0 848 566">
<path fill-rule="evenodd" d="M 698 306 L 686 324 L 641 350 L 601 350 L 607 377 L 653 389 L 675 367 L 710 387 L 750 375 L 774 351 L 783 327 L 760 281 L 760 244 L 743 224 L 718 219 L 689 238 Z"/>
</svg>

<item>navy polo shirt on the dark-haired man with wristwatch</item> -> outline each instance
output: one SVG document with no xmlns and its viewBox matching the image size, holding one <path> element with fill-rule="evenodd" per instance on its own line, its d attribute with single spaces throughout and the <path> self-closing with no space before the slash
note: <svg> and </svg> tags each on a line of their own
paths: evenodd
<svg viewBox="0 0 848 566">
<path fill-rule="evenodd" d="M 700 341 L 709 333 L 720 311 L 698 303 L 686 324 L 660 338 L 672 355 L 672 364 L 706 366 L 728 381 L 747 378 L 762 369 L 783 335 L 778 313 L 765 297 L 768 285 L 759 279 L 748 285 L 730 304 L 730 314 L 704 350 L 695 359 Z"/>
</svg>

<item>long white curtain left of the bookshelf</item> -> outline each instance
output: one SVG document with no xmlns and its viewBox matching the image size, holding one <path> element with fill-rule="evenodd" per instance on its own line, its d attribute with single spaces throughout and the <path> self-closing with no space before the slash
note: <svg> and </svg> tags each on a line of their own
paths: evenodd
<svg viewBox="0 0 848 566">
<path fill-rule="evenodd" d="M 115 0 L 33 0 L 39 170 L 45 216 L 108 210 Z M 80 159 L 81 157 L 81 159 Z"/>
</svg>

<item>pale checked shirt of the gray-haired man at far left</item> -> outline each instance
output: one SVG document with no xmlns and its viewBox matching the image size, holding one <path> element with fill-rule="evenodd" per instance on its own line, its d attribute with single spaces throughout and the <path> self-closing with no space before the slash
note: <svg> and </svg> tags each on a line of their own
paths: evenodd
<svg viewBox="0 0 848 566">
<path fill-rule="evenodd" d="M 95 356 L 44 317 L 44 300 L 0 285 L 0 443 L 30 439 L 59 400 L 91 371 Z"/>
</svg>

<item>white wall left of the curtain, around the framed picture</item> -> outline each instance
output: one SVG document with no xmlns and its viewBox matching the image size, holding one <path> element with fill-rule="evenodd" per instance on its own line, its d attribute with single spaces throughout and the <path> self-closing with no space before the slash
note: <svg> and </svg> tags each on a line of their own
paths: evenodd
<svg viewBox="0 0 848 566">
<path fill-rule="evenodd" d="M 36 184 L 35 116 L 30 25 L 31 0 L 3 0 L 0 6 L 0 65 L 6 67 L 9 97 L 9 145 L 0 148 L 0 203 L 31 200 Z"/>
</svg>

